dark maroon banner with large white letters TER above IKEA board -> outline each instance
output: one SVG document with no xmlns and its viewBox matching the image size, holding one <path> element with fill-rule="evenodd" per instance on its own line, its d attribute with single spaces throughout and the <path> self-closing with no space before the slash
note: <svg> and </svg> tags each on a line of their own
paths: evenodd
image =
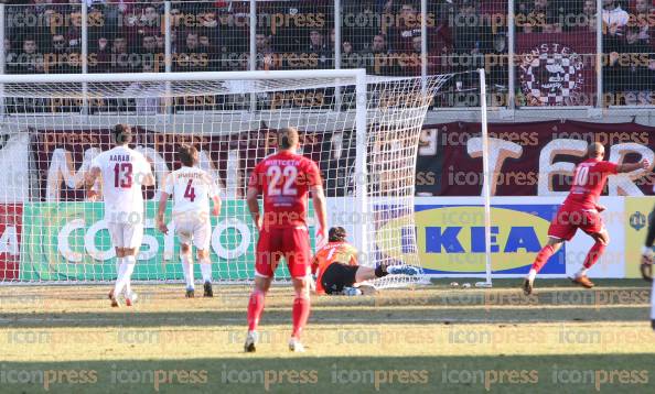
<svg viewBox="0 0 655 394">
<path fill-rule="evenodd" d="M 494 196 L 556 196 L 570 188 L 576 164 L 587 145 L 600 142 L 605 160 L 635 163 L 655 160 L 655 128 L 636 123 L 546 121 L 490 124 L 490 171 Z M 426 125 L 417 161 L 417 194 L 482 194 L 480 123 Z M 610 176 L 604 194 L 653 195 L 651 171 Z"/>
</svg>

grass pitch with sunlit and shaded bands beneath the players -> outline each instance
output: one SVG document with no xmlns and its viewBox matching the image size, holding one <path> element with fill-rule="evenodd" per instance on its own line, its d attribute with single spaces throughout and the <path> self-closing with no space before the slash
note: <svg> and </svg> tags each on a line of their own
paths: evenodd
<svg viewBox="0 0 655 394">
<path fill-rule="evenodd" d="M 246 286 L 137 285 L 118 309 L 109 286 L 0 287 L 0 393 L 655 393 L 644 282 L 449 283 L 312 296 L 305 353 L 287 349 L 292 292 L 275 287 L 250 354 Z"/>
</svg>

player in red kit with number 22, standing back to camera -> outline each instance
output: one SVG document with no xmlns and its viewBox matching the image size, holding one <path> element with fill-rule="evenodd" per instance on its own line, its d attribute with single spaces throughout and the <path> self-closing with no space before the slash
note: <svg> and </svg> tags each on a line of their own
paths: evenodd
<svg viewBox="0 0 655 394">
<path fill-rule="evenodd" d="M 246 352 L 257 344 L 257 325 L 273 273 L 284 258 L 296 298 L 293 331 L 289 350 L 303 351 L 300 336 L 310 313 L 309 270 L 310 238 L 307 226 L 308 194 L 311 191 L 319 220 L 319 239 L 325 239 L 325 196 L 316 163 L 297 154 L 298 130 L 286 128 L 278 133 L 278 152 L 264 158 L 248 182 L 248 209 L 259 229 L 255 264 L 255 288 L 248 303 Z M 258 196 L 264 195 L 264 215 L 259 215 Z"/>
</svg>

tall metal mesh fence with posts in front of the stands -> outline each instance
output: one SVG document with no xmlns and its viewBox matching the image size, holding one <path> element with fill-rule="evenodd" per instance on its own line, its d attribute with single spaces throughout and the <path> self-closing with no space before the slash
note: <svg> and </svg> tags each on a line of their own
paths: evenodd
<svg viewBox="0 0 655 394">
<path fill-rule="evenodd" d="M 33 0 L 0 13 L 8 74 L 485 68 L 490 107 L 655 103 L 653 0 Z M 477 107 L 477 91 L 459 74 L 434 106 Z"/>
</svg>

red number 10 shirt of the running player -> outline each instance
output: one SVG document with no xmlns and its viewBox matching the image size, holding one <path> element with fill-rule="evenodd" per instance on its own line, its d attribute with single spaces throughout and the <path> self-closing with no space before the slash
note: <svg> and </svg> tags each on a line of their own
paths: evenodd
<svg viewBox="0 0 655 394">
<path fill-rule="evenodd" d="M 616 174 L 618 164 L 589 158 L 578 164 L 573 172 L 573 185 L 563 205 L 579 209 L 595 209 L 608 175 Z"/>
</svg>

